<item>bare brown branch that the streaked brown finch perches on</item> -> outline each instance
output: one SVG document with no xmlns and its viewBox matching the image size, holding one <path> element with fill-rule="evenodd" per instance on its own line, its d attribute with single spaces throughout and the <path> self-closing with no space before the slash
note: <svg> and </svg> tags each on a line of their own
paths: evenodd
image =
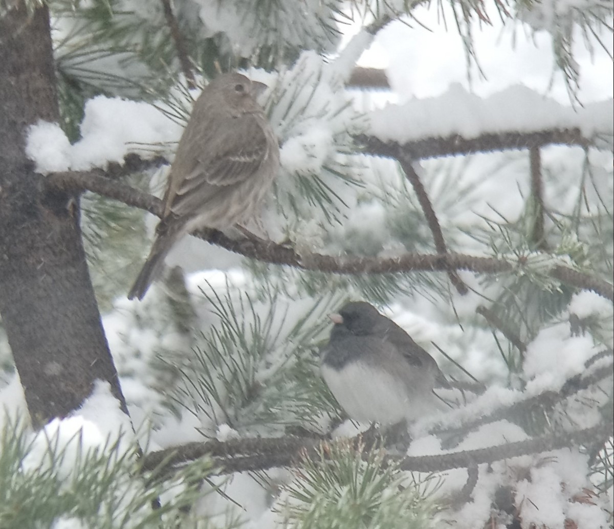
<svg viewBox="0 0 614 529">
<path fill-rule="evenodd" d="M 112 182 L 96 172 L 60 172 L 47 177 L 47 185 L 64 190 L 93 191 L 99 195 L 117 199 L 128 206 L 139 207 L 160 217 L 163 203 L 155 196 L 143 193 L 128 185 Z M 428 255 L 406 253 L 398 257 L 334 257 L 319 253 L 295 252 L 292 247 L 260 239 L 231 239 L 217 230 L 200 230 L 193 233 L 204 241 L 240 253 L 244 257 L 270 264 L 284 264 L 303 270 L 336 274 L 394 274 L 409 271 L 468 270 L 481 274 L 510 272 L 522 267 L 521 261 L 513 263 L 492 257 L 474 257 L 458 253 Z M 614 301 L 612 284 L 597 277 L 588 276 L 565 266 L 554 266 L 550 276 L 565 284 L 593 292 Z"/>
</svg>

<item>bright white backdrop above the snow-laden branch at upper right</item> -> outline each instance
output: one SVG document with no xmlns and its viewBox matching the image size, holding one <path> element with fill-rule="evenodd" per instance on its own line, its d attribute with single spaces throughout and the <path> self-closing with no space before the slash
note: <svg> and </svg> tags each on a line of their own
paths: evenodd
<svg viewBox="0 0 614 529">
<path fill-rule="evenodd" d="M 392 88 L 400 100 L 426 98 L 445 92 L 450 83 L 463 83 L 468 88 L 467 63 L 454 18 L 449 8 L 443 9 L 449 30 L 438 23 L 437 9 L 420 7 L 416 18 L 431 31 L 413 23 L 413 27 L 395 21 L 381 30 L 373 45 L 363 53 L 360 66 L 386 68 Z M 532 34 L 529 26 L 507 23 L 503 26 L 498 15 L 491 13 L 492 26 L 475 28 L 475 50 L 487 79 L 472 68 L 472 90 L 481 96 L 491 95 L 515 83 L 523 83 L 557 101 L 569 104 L 562 75 L 556 72 L 549 90 L 553 71 L 551 39 L 545 31 Z M 357 23 L 348 26 L 346 39 L 359 31 Z M 580 66 L 580 101 L 583 103 L 612 98 L 614 68 L 612 60 L 593 39 L 594 53 L 583 44 L 577 31 L 575 58 Z M 612 34 L 604 33 L 602 42 L 613 53 Z"/>
</svg>

